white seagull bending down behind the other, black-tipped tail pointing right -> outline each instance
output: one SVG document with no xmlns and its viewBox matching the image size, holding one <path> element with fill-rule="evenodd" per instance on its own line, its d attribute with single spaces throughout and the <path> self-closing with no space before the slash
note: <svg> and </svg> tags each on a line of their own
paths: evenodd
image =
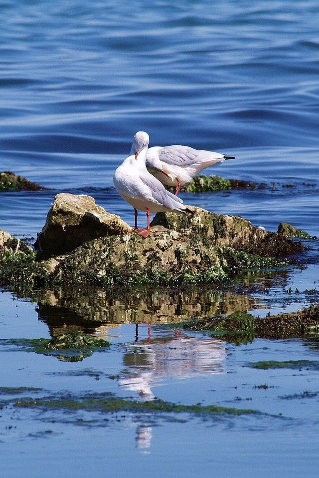
<svg viewBox="0 0 319 478">
<path fill-rule="evenodd" d="M 131 154 L 134 151 L 134 143 Z M 148 150 L 146 167 L 159 181 L 174 188 L 174 194 L 189 183 L 203 169 L 220 164 L 225 159 L 234 159 L 222 153 L 197 150 L 189 146 L 174 144 L 173 146 L 153 146 Z"/>
</svg>

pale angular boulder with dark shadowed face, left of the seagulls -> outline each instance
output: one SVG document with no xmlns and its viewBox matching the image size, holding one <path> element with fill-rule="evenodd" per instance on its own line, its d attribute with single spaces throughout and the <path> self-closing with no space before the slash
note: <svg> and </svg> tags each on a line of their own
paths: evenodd
<svg viewBox="0 0 319 478">
<path fill-rule="evenodd" d="M 123 235 L 131 228 L 85 195 L 57 194 L 34 244 L 37 260 L 71 252 L 83 242 Z"/>
</svg>

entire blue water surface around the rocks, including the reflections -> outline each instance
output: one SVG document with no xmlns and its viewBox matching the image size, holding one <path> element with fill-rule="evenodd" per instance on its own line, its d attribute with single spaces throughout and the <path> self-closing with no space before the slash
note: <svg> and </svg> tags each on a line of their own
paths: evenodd
<svg viewBox="0 0 319 478">
<path fill-rule="evenodd" d="M 132 223 L 112 175 L 142 129 L 151 145 L 234 154 L 207 173 L 266 185 L 182 194 L 185 203 L 270 231 L 286 221 L 319 236 L 318 18 L 314 0 L 2 2 L 0 171 L 49 190 L 0 193 L 0 228 L 32 242 L 58 192 L 89 194 Z M 319 260 L 316 241 L 308 245 L 300 259 L 306 268 L 239 277 L 268 292 L 242 292 L 236 300 L 212 291 L 137 292 L 130 301 L 110 301 L 103 291 L 94 299 L 87 291 L 39 291 L 31 299 L 3 291 L 0 387 L 156 396 L 269 414 L 106 421 L 91 412 L 43 416 L 5 408 L 3 476 L 37 477 L 45 469 L 57 478 L 70 467 L 78 477 L 311 476 L 318 467 L 318 370 L 245 365 L 263 357 L 316 361 L 316 343 L 235 346 L 163 325 L 190 315 L 266 315 L 309 305 L 316 297 L 305 291 L 318 288 Z M 289 288 L 300 293 L 287 294 Z M 65 329 L 107 337 L 111 351 L 71 363 L 5 342 Z"/>
</svg>

